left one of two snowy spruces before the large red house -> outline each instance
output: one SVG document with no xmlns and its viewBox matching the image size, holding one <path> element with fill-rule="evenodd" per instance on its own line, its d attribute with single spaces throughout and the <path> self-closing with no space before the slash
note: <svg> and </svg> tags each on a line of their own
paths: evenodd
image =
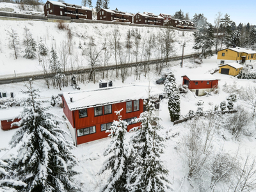
<svg viewBox="0 0 256 192">
<path fill-rule="evenodd" d="M 104 156 L 109 156 L 104 162 L 100 173 L 110 170 L 108 184 L 104 186 L 102 191 L 128 191 L 127 180 L 129 178 L 130 166 L 132 164 L 131 155 L 134 152 L 129 141 L 125 140 L 128 123 L 122 120 L 121 111 L 115 111 L 118 120 L 114 120 L 112 126 L 106 132 L 112 139 L 108 148 L 104 152 Z"/>
</svg>

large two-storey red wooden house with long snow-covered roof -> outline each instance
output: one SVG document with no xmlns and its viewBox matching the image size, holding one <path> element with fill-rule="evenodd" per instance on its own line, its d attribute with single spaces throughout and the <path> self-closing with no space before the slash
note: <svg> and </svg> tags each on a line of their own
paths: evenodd
<svg viewBox="0 0 256 192">
<path fill-rule="evenodd" d="M 162 95 L 158 88 L 152 87 L 150 95 Z M 106 138 L 114 113 L 123 109 L 120 115 L 129 125 L 127 131 L 138 126 L 131 120 L 143 112 L 143 99 L 148 97 L 148 86 L 130 85 L 122 87 L 100 88 L 79 92 L 65 92 L 61 95 L 63 112 L 76 145 Z"/>
</svg>

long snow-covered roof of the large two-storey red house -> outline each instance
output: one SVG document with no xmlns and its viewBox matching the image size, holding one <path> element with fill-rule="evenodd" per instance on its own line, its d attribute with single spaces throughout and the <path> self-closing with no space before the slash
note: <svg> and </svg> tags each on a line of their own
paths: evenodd
<svg viewBox="0 0 256 192">
<path fill-rule="evenodd" d="M 159 90 L 156 86 L 150 86 L 150 95 L 162 94 L 163 91 Z M 74 111 L 128 100 L 147 99 L 148 85 L 131 84 L 129 86 L 99 88 L 98 90 L 64 92 L 63 97 L 70 111 Z M 70 102 L 71 97 L 72 102 Z"/>
</svg>

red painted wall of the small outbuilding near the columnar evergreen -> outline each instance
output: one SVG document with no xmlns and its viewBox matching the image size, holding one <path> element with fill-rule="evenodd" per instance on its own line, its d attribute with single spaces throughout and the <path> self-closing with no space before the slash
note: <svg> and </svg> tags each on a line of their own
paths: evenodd
<svg viewBox="0 0 256 192">
<path fill-rule="evenodd" d="M 207 81 L 190 81 L 188 79 L 188 77 L 183 77 L 183 83 L 182 84 L 185 84 L 184 83 L 184 80 L 188 80 L 189 81 L 189 85 L 188 85 L 188 88 L 189 89 L 207 89 L 207 88 L 214 88 L 215 86 L 218 86 L 218 80 L 212 80 L 212 81 L 209 81 L 209 84 L 207 84 Z M 196 82 L 198 82 L 198 84 L 196 84 Z"/>
</svg>

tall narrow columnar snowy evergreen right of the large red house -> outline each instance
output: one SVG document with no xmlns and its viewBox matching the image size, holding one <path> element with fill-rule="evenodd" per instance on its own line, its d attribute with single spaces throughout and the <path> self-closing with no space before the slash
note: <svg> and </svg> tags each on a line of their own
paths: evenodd
<svg viewBox="0 0 256 192">
<path fill-rule="evenodd" d="M 164 92 L 168 97 L 168 109 L 171 121 L 174 122 L 180 117 L 180 95 L 176 86 L 176 79 L 172 72 L 166 77 L 164 82 Z"/>
</svg>

